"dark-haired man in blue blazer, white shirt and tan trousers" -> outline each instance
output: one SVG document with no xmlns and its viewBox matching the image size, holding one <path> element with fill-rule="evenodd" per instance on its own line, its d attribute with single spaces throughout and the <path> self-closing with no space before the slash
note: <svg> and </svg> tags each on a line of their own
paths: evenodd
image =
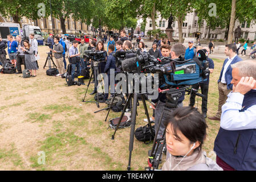
<svg viewBox="0 0 256 182">
<path fill-rule="evenodd" d="M 232 68 L 231 64 L 235 64 L 239 61 L 242 61 L 241 57 L 238 57 L 235 51 L 237 50 L 237 46 L 234 44 L 227 44 L 225 47 L 225 54 L 229 56 L 225 59 L 224 64 L 221 69 L 221 75 L 218 80 L 218 90 L 219 90 L 219 104 L 218 111 L 214 117 L 208 117 L 209 119 L 218 120 L 221 119 L 221 107 L 225 104 L 227 100 L 227 95 L 233 89 L 233 84 L 231 84 L 232 80 Z"/>
</svg>

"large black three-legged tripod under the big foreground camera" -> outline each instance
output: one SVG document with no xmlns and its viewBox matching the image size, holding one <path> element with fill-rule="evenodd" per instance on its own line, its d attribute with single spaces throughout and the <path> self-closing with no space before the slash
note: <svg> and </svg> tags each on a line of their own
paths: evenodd
<svg viewBox="0 0 256 182">
<path fill-rule="evenodd" d="M 121 120 L 124 117 L 125 110 L 127 109 L 129 103 L 132 101 L 132 97 L 133 97 L 132 117 L 131 117 L 131 119 L 132 119 L 132 121 L 131 121 L 131 133 L 130 133 L 130 139 L 129 139 L 129 162 L 128 162 L 128 167 L 127 167 L 128 171 L 131 170 L 131 159 L 132 159 L 133 141 L 134 141 L 135 125 L 136 125 L 137 101 L 138 101 L 137 96 L 138 95 L 141 95 L 144 110 L 145 110 L 145 114 L 147 115 L 147 119 L 148 119 L 148 125 L 150 127 L 151 134 L 153 135 L 153 129 L 152 129 L 152 126 L 151 126 L 149 115 L 148 115 L 148 109 L 147 109 L 147 105 L 146 105 L 146 101 L 145 101 L 145 96 L 144 96 L 144 94 L 137 94 L 137 93 L 130 93 L 128 95 L 127 101 L 125 102 L 124 109 L 123 109 L 123 111 L 121 113 L 121 116 L 119 118 L 119 122 L 117 123 L 115 133 L 112 135 L 112 139 L 115 139 L 116 131 L 118 130 L 119 125 L 121 123 Z"/>
</svg>

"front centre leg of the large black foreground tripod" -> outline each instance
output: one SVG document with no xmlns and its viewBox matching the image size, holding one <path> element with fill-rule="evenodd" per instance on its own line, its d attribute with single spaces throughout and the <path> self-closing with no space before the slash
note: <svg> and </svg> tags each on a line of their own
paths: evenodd
<svg viewBox="0 0 256 182">
<path fill-rule="evenodd" d="M 132 122 L 131 122 L 131 133 L 130 133 L 130 140 L 129 140 L 129 162 L 127 167 L 128 171 L 131 170 L 133 140 L 134 140 L 135 124 L 136 124 L 136 111 L 137 111 L 137 94 L 133 94 Z"/>
</svg>

